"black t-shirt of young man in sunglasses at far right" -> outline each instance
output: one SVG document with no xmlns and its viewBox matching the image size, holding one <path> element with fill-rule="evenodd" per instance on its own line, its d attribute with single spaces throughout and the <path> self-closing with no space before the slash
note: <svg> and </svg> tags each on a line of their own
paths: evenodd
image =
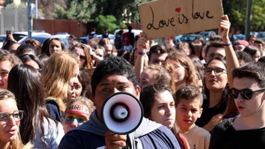
<svg viewBox="0 0 265 149">
<path fill-rule="evenodd" d="M 265 127 L 236 131 L 235 118 L 218 124 L 212 131 L 209 149 L 260 149 L 265 148 Z"/>
</svg>

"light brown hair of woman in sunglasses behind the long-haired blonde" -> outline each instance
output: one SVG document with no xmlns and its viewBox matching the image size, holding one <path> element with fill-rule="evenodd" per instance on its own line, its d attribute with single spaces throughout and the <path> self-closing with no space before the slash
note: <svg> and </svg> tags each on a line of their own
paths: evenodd
<svg viewBox="0 0 265 149">
<path fill-rule="evenodd" d="M 73 45 L 70 48 L 70 51 L 73 51 L 75 48 L 81 48 L 84 51 L 84 53 L 85 53 L 86 60 L 85 60 L 84 66 L 82 66 L 82 67 L 84 67 L 84 68 L 91 68 L 92 67 L 92 65 L 91 65 L 92 59 L 91 59 L 91 56 L 90 56 L 90 49 L 85 44 L 79 43 L 77 45 Z"/>
</svg>

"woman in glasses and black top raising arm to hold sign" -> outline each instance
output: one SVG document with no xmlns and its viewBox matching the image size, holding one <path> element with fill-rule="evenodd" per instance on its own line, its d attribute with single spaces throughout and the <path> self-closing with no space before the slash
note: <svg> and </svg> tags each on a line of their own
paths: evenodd
<svg viewBox="0 0 265 149">
<path fill-rule="evenodd" d="M 238 59 L 229 40 L 230 22 L 227 15 L 220 19 L 219 34 L 223 40 L 226 61 L 221 57 L 210 60 L 204 68 L 205 94 L 201 118 L 195 123 L 211 132 L 223 120 L 223 113 L 229 95 L 229 86 L 232 86 L 232 70 L 239 67 Z"/>
</svg>

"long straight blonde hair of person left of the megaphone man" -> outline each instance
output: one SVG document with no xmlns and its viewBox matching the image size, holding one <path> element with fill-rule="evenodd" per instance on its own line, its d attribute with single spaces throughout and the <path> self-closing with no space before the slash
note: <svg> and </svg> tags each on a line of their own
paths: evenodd
<svg viewBox="0 0 265 149">
<path fill-rule="evenodd" d="M 42 71 L 46 99 L 55 99 L 61 111 L 67 104 L 69 80 L 73 76 L 73 68 L 79 61 L 73 53 L 62 51 L 54 53 L 48 59 Z"/>
</svg>

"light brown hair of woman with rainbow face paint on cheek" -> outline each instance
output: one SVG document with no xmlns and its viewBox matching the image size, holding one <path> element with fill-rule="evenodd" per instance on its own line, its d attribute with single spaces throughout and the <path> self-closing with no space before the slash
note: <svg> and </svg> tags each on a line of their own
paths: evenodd
<svg viewBox="0 0 265 149">
<path fill-rule="evenodd" d="M 185 83 L 188 85 L 194 85 L 198 87 L 198 77 L 196 75 L 195 67 L 192 63 L 192 60 L 185 54 L 181 54 L 179 52 L 171 53 L 167 56 L 166 60 L 170 59 L 173 61 L 178 62 L 181 64 L 185 70 L 187 71 L 185 73 Z"/>
</svg>

